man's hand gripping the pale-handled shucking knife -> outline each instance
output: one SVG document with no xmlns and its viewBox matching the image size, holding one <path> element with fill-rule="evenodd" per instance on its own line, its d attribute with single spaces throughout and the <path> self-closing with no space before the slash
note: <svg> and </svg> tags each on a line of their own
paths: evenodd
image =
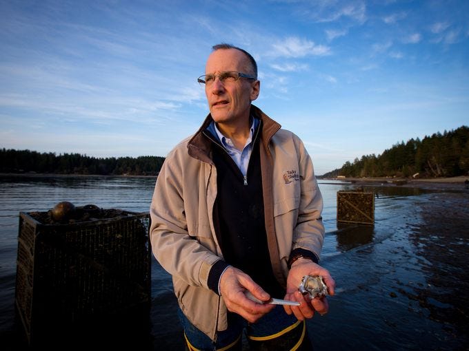
<svg viewBox="0 0 469 351">
<path fill-rule="evenodd" d="M 249 275 L 231 266 L 226 268 L 220 277 L 220 293 L 230 312 L 235 312 L 250 323 L 254 323 L 275 308 L 274 305 L 257 304 L 251 301 L 244 295 L 246 290 L 261 301 L 270 299 L 270 295 Z"/>
</svg>

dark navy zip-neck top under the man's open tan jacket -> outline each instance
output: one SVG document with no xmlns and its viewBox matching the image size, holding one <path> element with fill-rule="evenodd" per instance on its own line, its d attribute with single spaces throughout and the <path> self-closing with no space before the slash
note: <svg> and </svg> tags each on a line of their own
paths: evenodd
<svg viewBox="0 0 469 351">
<path fill-rule="evenodd" d="M 226 150 L 212 143 L 217 167 L 217 199 L 214 220 L 217 224 L 223 257 L 228 264 L 243 270 L 272 297 L 283 297 L 272 273 L 264 223 L 259 136 L 249 160 L 247 184 L 243 174 Z"/>
</svg>

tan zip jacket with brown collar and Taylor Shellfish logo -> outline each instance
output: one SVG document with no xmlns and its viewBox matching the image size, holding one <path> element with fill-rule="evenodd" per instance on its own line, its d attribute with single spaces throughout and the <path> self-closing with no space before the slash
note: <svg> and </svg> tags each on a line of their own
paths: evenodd
<svg viewBox="0 0 469 351">
<path fill-rule="evenodd" d="M 255 106 L 261 118 L 261 170 L 270 261 L 277 280 L 286 285 L 287 262 L 294 248 L 319 259 L 324 227 L 323 201 L 312 161 L 301 140 Z M 223 298 L 208 288 L 212 265 L 223 259 L 212 218 L 217 197 L 217 169 L 210 142 L 201 134 L 179 143 L 161 168 L 150 206 L 152 251 L 171 275 L 179 307 L 212 340 L 227 328 Z"/>
</svg>

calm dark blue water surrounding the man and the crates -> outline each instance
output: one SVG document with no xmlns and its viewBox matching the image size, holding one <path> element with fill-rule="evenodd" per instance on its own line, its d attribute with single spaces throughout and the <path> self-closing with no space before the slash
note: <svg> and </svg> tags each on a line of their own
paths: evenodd
<svg viewBox="0 0 469 351">
<path fill-rule="evenodd" d="M 443 292 L 453 292 L 452 286 L 444 286 L 442 291 L 435 283 L 435 275 L 463 275 L 459 279 L 465 279 L 467 273 L 461 273 L 461 267 L 454 265 L 444 266 L 444 271 L 439 272 L 441 265 L 435 266 L 427 248 L 446 246 L 449 240 L 452 253 L 442 251 L 440 255 L 462 257 L 468 253 L 468 234 L 460 234 L 454 240 L 447 237 L 443 244 L 437 233 L 428 242 L 421 240 L 422 228 L 429 223 L 425 206 L 441 194 L 402 187 L 371 189 L 379 193 L 375 200 L 375 226 L 337 228 L 337 191 L 355 187 L 343 182 L 320 182 L 319 186 L 326 226 L 321 264 L 335 277 L 338 294 L 329 298 L 328 315 L 308 321 L 315 349 L 467 349 L 468 330 L 463 326 L 468 318 L 467 306 L 443 299 Z M 14 275 L 19 212 L 48 211 L 63 200 L 77 206 L 96 204 L 148 212 L 153 188 L 153 178 L 0 178 L 0 344 L 14 343 L 18 337 Z M 467 193 L 452 194 L 455 197 L 462 215 L 466 215 Z M 462 224 L 461 230 L 466 228 Z M 467 290 L 461 291 L 467 295 Z M 466 319 L 453 313 L 461 308 Z M 175 311 L 170 276 L 153 260 L 154 350 L 183 350 Z"/>
</svg>

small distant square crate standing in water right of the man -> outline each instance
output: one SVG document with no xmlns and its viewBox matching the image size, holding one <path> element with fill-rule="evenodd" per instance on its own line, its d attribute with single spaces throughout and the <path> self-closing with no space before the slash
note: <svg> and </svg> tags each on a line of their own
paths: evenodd
<svg viewBox="0 0 469 351">
<path fill-rule="evenodd" d="M 337 191 L 337 222 L 374 224 L 375 193 Z"/>
</svg>

